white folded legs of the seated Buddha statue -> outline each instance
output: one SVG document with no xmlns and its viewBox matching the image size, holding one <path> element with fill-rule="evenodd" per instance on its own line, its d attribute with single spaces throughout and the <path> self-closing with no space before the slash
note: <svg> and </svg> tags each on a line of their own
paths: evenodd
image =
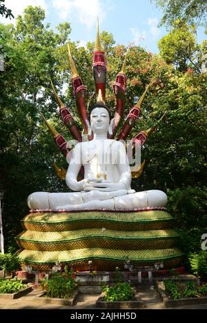
<svg viewBox="0 0 207 323">
<path fill-rule="evenodd" d="M 119 191 L 90 191 L 73 193 L 35 192 L 28 197 L 30 209 L 139 209 L 165 207 L 167 196 L 163 191 L 140 191 L 126 194 Z"/>
</svg>

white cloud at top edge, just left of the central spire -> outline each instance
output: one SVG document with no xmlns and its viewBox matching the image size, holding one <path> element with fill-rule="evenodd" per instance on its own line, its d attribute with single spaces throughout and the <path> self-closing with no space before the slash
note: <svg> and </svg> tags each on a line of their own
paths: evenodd
<svg viewBox="0 0 207 323">
<path fill-rule="evenodd" d="M 74 14 L 88 28 L 92 28 L 97 17 L 100 22 L 106 17 L 106 10 L 101 0 L 52 0 L 52 5 L 61 19 Z"/>
</svg>

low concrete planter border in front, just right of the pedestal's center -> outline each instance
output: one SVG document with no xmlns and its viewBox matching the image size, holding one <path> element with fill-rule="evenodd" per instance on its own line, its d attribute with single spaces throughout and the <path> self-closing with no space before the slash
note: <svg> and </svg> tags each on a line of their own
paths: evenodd
<svg viewBox="0 0 207 323">
<path fill-rule="evenodd" d="M 144 302 L 138 297 L 130 301 L 103 301 L 103 296 L 100 296 L 96 302 L 96 307 L 101 309 L 144 309 Z"/>
</svg>

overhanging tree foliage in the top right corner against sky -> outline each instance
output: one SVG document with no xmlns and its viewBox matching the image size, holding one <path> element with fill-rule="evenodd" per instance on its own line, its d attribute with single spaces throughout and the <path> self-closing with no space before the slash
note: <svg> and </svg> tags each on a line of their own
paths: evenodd
<svg viewBox="0 0 207 323">
<path fill-rule="evenodd" d="M 198 25 L 207 22 L 205 0 L 152 0 L 152 2 L 164 10 L 161 25 L 173 25 L 177 19 Z"/>
</svg>

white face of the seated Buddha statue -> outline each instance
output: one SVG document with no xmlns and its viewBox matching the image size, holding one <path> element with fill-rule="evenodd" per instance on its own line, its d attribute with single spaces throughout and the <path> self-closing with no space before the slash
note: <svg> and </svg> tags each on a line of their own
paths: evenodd
<svg viewBox="0 0 207 323">
<path fill-rule="evenodd" d="M 90 114 L 90 127 L 94 134 L 107 134 L 110 118 L 104 107 L 95 107 Z"/>
</svg>

